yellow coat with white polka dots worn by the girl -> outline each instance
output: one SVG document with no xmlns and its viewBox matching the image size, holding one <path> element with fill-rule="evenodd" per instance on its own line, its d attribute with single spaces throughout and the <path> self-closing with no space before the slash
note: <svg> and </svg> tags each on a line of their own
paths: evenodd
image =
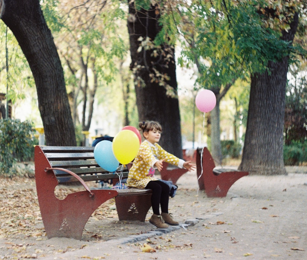
<svg viewBox="0 0 307 260">
<path fill-rule="evenodd" d="M 185 162 L 166 152 L 159 144 L 151 144 L 147 140 L 143 141 L 129 170 L 127 186 L 145 188 L 150 181 L 158 180 L 156 177 L 150 176 L 149 171 L 158 160 L 162 159 L 179 168 L 182 168 Z"/>
</svg>

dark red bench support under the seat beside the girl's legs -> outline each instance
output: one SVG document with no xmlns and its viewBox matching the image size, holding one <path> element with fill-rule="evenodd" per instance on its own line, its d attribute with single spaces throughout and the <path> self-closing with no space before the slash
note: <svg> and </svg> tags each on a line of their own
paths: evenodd
<svg viewBox="0 0 307 260">
<path fill-rule="evenodd" d="M 145 221 L 151 207 L 151 194 L 117 196 L 116 210 L 119 220 Z"/>
</svg>

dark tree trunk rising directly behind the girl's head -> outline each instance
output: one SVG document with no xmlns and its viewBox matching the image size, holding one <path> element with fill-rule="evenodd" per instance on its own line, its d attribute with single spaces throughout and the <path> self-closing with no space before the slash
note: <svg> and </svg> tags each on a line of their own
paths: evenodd
<svg viewBox="0 0 307 260">
<path fill-rule="evenodd" d="M 182 158 L 181 126 L 179 102 L 177 97 L 169 97 L 164 86 L 153 80 L 150 74 L 155 74 L 153 69 L 158 69 L 161 75 L 169 76 L 166 79 L 175 94 L 177 94 L 177 79 L 174 49 L 165 44 L 161 48 L 165 56 L 153 57 L 153 51 L 149 49 L 138 52 L 140 37 L 149 37 L 152 41 L 161 30 L 158 25 L 159 10 L 152 7 L 151 10 L 135 10 L 134 2 L 129 1 L 128 31 L 130 37 L 131 69 L 134 73 L 135 81 L 138 77 L 142 79 L 144 85 L 136 85 L 136 100 L 138 116 L 140 121 L 158 121 L 162 128 L 160 145 L 168 152 Z M 169 60 L 165 59 L 170 57 Z"/>
</svg>

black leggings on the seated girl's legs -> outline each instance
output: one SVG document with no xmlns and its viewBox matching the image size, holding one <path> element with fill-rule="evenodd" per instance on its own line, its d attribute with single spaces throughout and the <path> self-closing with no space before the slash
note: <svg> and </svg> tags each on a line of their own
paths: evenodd
<svg viewBox="0 0 307 260">
<path fill-rule="evenodd" d="M 162 212 L 169 213 L 169 185 L 159 180 L 150 181 L 146 189 L 153 191 L 151 195 L 153 214 L 160 215 L 159 205 L 161 205 Z"/>
</svg>

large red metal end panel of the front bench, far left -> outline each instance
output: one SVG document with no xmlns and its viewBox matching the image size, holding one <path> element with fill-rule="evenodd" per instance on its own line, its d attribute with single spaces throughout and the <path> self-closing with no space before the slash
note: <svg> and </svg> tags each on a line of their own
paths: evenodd
<svg viewBox="0 0 307 260">
<path fill-rule="evenodd" d="M 65 199 L 57 199 L 54 189 L 57 180 L 48 160 L 39 149 L 35 153 L 35 181 L 37 198 L 48 238 L 66 237 L 81 239 L 84 226 L 92 213 L 108 199 L 118 195 L 116 190 L 93 190 L 90 197 L 88 191 L 69 194 Z"/>
</svg>

